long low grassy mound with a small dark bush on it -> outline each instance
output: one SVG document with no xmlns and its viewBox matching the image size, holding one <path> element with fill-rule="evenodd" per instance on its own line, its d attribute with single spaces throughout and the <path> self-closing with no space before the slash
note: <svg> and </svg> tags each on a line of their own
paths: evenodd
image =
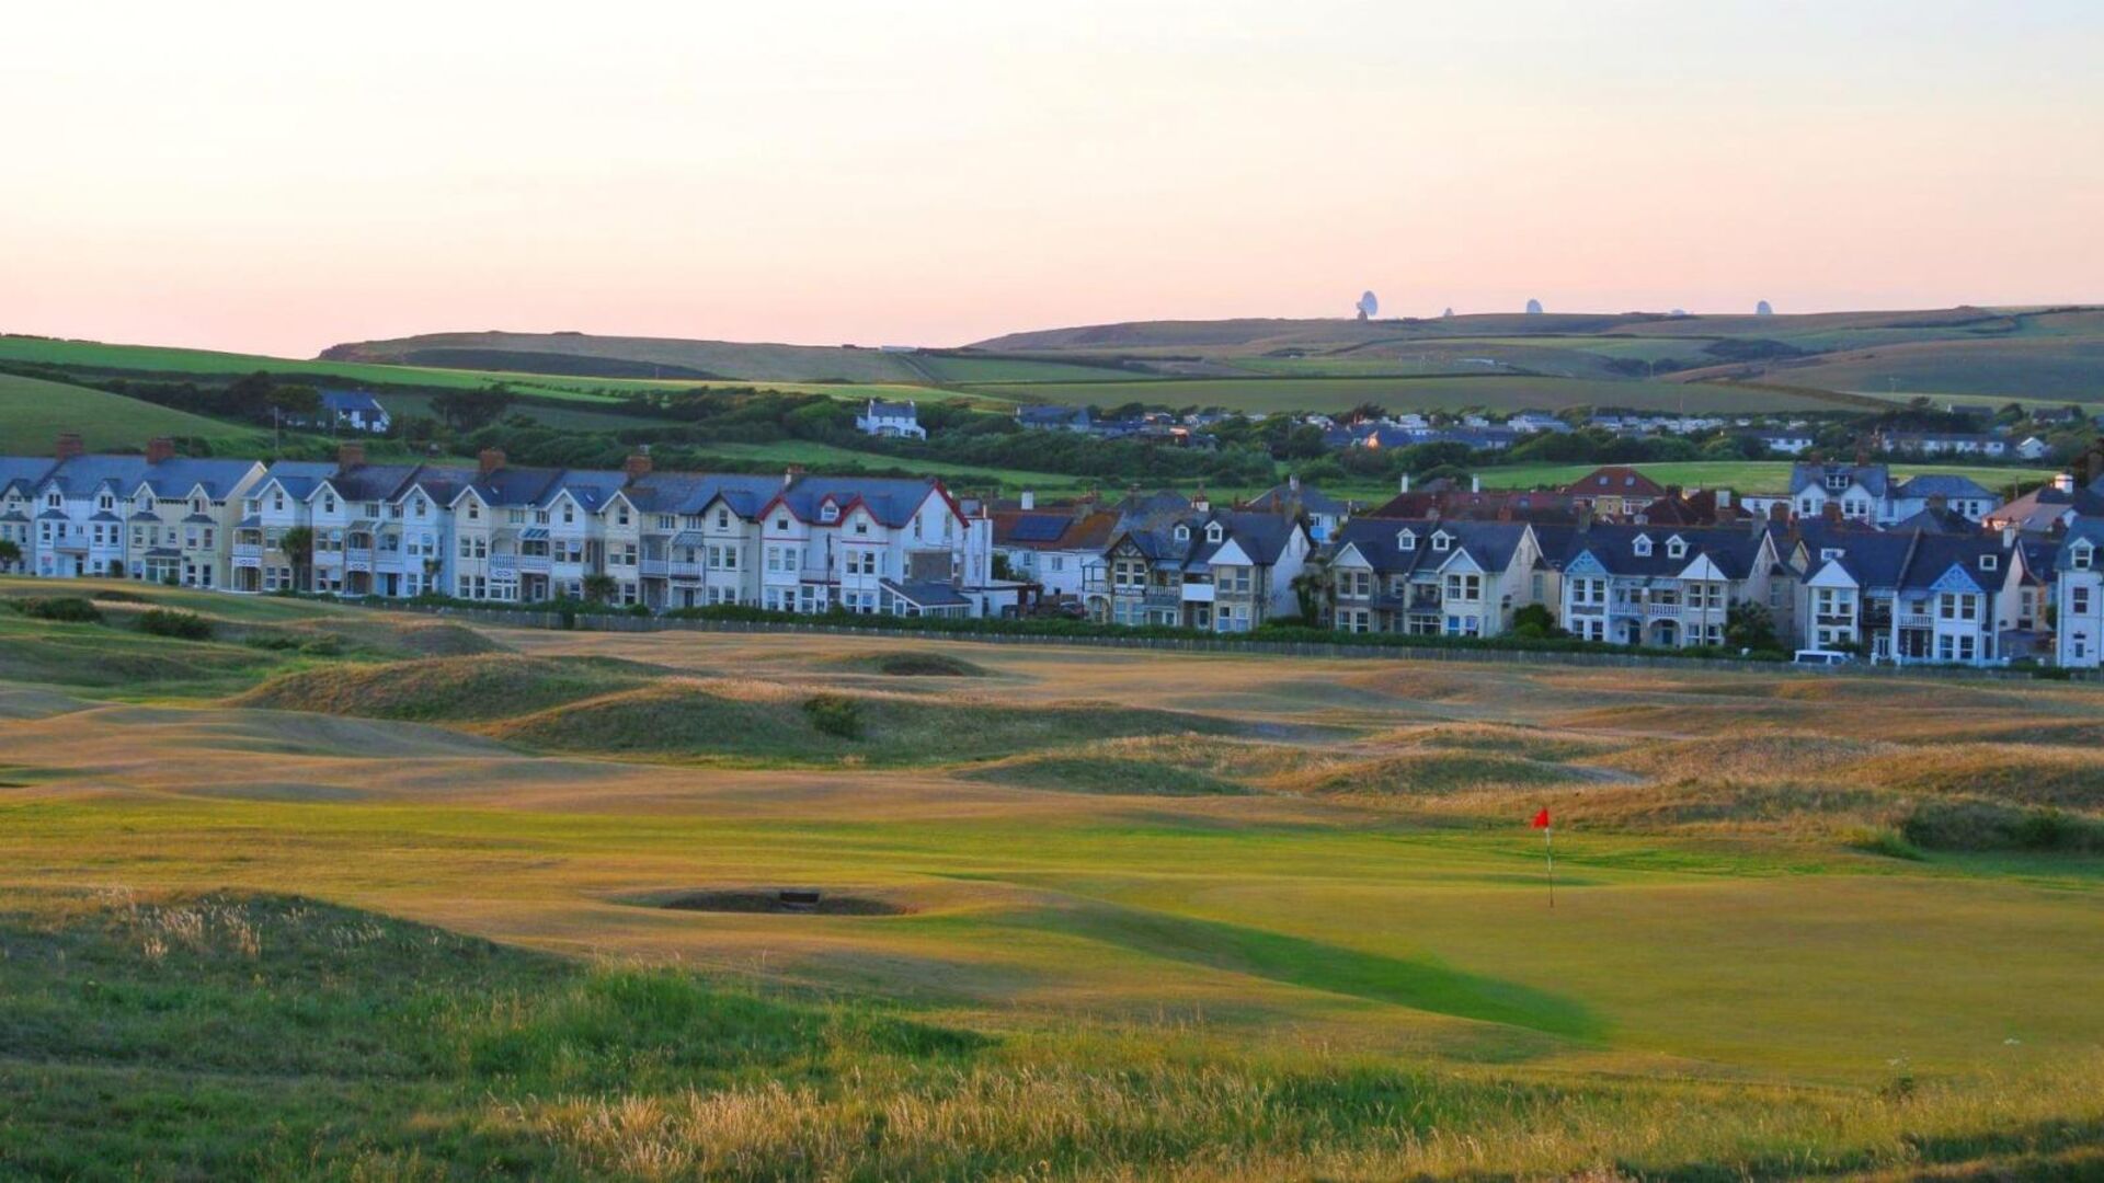
<svg viewBox="0 0 2104 1183">
<path fill-rule="evenodd" d="M 488 728 L 509 743 L 555 751 L 879 762 L 978 760 L 1187 730 L 1225 730 L 1225 724 L 1096 703 L 1023 707 L 909 695 L 812 695 L 732 680 L 661 680 Z"/>
</svg>

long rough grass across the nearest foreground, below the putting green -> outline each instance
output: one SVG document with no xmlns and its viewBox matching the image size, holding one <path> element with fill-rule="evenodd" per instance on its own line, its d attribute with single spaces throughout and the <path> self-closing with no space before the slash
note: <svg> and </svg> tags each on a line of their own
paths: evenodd
<svg viewBox="0 0 2104 1183">
<path fill-rule="evenodd" d="M 29 1177 L 2075 1179 L 2104 1162 L 2096 1055 L 1835 1090 L 1435 1074 L 1174 1027 L 989 1038 L 244 895 L 15 895 L 0 947 L 0 1168 Z"/>
</svg>

